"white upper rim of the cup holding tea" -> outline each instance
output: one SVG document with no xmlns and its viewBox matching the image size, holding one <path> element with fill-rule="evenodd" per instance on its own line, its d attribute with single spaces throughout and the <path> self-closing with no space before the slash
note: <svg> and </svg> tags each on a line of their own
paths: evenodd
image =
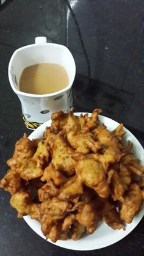
<svg viewBox="0 0 144 256">
<path fill-rule="evenodd" d="M 23 49 L 26 49 L 26 48 L 31 48 L 31 47 L 37 47 L 37 46 L 46 46 L 46 45 L 54 45 L 54 46 L 57 46 L 59 48 L 65 48 L 67 49 L 67 51 L 69 52 L 69 54 L 71 55 L 71 58 L 73 59 L 73 64 L 74 64 L 74 75 L 73 75 L 73 78 L 71 79 L 71 81 L 69 82 L 68 86 L 65 87 L 64 89 L 62 90 L 58 90 L 57 92 L 52 92 L 52 93 L 45 93 L 45 94 L 33 94 L 33 93 L 27 93 L 27 92 L 21 92 L 20 90 L 16 90 L 15 86 L 13 85 L 13 81 L 12 81 L 12 77 L 10 76 L 10 69 L 12 67 L 12 60 L 13 58 L 15 57 L 16 53 L 18 53 L 19 51 L 23 50 Z M 10 58 L 10 61 L 9 61 L 9 67 L 8 67 L 8 76 L 9 76 L 9 82 L 10 82 L 10 86 L 12 87 L 13 91 L 17 94 L 17 95 L 21 95 L 21 96 L 24 96 L 24 97 L 32 97 L 32 98 L 45 98 L 45 97 L 52 97 L 52 96 L 56 96 L 56 95 L 59 95 L 61 93 L 64 93 L 64 92 L 67 92 L 67 90 L 69 90 L 71 88 L 71 86 L 73 85 L 73 81 L 74 81 L 74 78 L 76 76 L 76 63 L 74 61 L 74 57 L 73 55 L 71 54 L 70 50 L 67 48 L 67 46 L 65 45 L 60 45 L 58 43 L 40 43 L 40 44 L 32 44 L 32 45 L 26 45 L 26 46 L 23 46 L 21 48 L 18 48 L 14 51 L 14 53 L 12 54 L 12 57 Z"/>
</svg>

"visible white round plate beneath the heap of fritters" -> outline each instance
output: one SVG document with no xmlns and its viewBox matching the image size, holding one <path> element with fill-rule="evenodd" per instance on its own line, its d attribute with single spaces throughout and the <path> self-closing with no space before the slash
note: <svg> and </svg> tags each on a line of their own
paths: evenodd
<svg viewBox="0 0 144 256">
<path fill-rule="evenodd" d="M 81 113 L 75 113 L 75 115 L 80 115 L 80 114 Z M 115 129 L 119 124 L 113 121 L 112 119 L 104 117 L 103 115 L 99 115 L 99 120 L 101 123 L 104 123 L 104 125 L 106 125 L 107 129 L 110 131 Z M 43 131 L 45 131 L 46 126 L 50 126 L 50 125 L 51 125 L 51 120 L 49 120 L 46 123 L 43 123 L 43 125 L 41 125 L 35 131 L 33 131 L 33 133 L 29 136 L 29 139 L 42 138 Z M 124 135 L 124 140 L 125 141 L 129 140 L 134 143 L 134 149 L 133 149 L 134 155 L 137 156 L 137 158 L 141 160 L 141 164 L 144 165 L 144 161 L 143 161 L 144 150 L 142 145 L 140 145 L 140 142 L 137 141 L 135 136 L 130 131 L 128 131 L 126 128 L 124 128 L 124 130 L 126 131 L 126 135 Z M 58 240 L 54 244 L 63 248 L 79 250 L 79 251 L 89 251 L 89 250 L 100 249 L 106 246 L 110 246 L 110 244 L 117 243 L 122 238 L 127 236 L 137 226 L 137 224 L 139 224 L 140 220 L 143 218 L 143 215 L 144 215 L 144 208 L 142 209 L 142 211 L 140 211 L 139 214 L 137 214 L 137 216 L 135 216 L 131 224 L 126 224 L 126 230 L 113 230 L 110 227 L 108 227 L 104 222 L 99 222 L 99 225 L 96 231 L 92 235 L 85 235 L 83 238 L 77 241 Z M 31 229 L 33 229 L 38 235 L 40 235 L 42 238 L 45 239 L 45 236 L 43 236 L 43 233 L 41 232 L 40 223 L 38 221 L 32 220 L 30 216 L 24 216 L 24 220 L 31 227 Z M 51 240 L 49 239 L 47 241 L 52 243 Z"/>
</svg>

